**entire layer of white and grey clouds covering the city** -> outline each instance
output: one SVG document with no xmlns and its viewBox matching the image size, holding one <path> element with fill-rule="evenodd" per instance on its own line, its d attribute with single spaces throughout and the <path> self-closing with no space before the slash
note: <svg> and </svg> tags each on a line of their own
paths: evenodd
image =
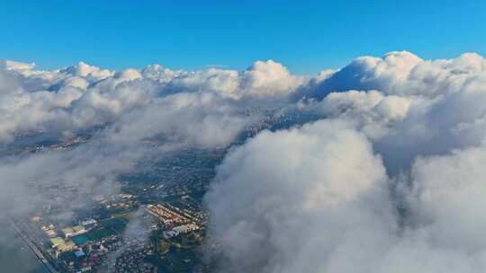
<svg viewBox="0 0 486 273">
<path fill-rule="evenodd" d="M 391 52 L 317 76 L 271 60 L 195 72 L 4 60 L 2 145 L 101 129 L 75 149 L 1 158 L 0 204 L 24 207 L 53 181 L 109 190 L 140 158 L 228 146 L 262 119 L 245 110 L 277 106 L 320 120 L 262 131 L 217 167 L 205 253 L 220 272 L 486 270 L 486 60 L 473 53 Z M 166 141 L 140 145 L 153 137 Z"/>
</svg>

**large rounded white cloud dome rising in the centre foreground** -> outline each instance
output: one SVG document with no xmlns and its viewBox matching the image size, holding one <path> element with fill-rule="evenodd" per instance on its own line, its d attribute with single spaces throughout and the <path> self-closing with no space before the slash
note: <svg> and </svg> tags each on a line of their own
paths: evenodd
<svg viewBox="0 0 486 273">
<path fill-rule="evenodd" d="M 357 269 L 326 260 L 345 254 L 347 243 L 393 228 L 385 181 L 380 157 L 345 123 L 259 134 L 227 155 L 206 196 L 210 242 L 223 256 L 220 271 Z M 363 252 L 359 259 L 365 262 L 367 254 L 374 255 Z"/>
</svg>

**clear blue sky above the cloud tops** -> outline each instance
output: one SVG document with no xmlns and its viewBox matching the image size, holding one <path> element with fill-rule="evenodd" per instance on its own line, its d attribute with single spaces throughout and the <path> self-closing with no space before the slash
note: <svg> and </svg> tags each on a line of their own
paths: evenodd
<svg viewBox="0 0 486 273">
<path fill-rule="evenodd" d="M 4 1 L 0 58 L 41 68 L 244 69 L 316 74 L 363 55 L 486 55 L 486 1 Z"/>
</svg>

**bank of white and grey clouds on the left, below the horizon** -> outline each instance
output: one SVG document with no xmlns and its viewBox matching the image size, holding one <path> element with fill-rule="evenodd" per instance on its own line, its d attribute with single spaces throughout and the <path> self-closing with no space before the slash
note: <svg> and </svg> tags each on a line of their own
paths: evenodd
<svg viewBox="0 0 486 273">
<path fill-rule="evenodd" d="M 70 187 L 85 190 L 65 200 L 66 211 L 72 210 L 89 203 L 92 190 L 116 192 L 116 177 L 130 172 L 142 156 L 225 147 L 263 118 L 246 114 L 254 107 L 251 101 L 258 107 L 266 103 L 260 99 L 291 92 L 301 83 L 298 78 L 273 61 L 257 62 L 245 71 L 187 72 L 150 65 L 117 72 L 84 62 L 42 71 L 33 64 L 4 60 L 3 148 L 31 134 L 57 139 L 87 133 L 90 139 L 66 151 L 1 157 L 0 187 L 10 190 L 0 195 L 0 205 L 29 211 L 56 196 L 50 189 L 59 189 L 61 196 L 60 191 Z M 31 202 L 25 203 L 26 198 Z"/>
</svg>

